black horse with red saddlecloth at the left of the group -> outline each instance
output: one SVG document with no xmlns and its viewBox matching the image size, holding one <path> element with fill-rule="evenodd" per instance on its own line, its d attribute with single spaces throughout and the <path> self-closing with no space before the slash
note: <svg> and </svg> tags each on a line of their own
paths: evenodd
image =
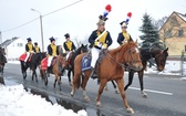
<svg viewBox="0 0 186 116">
<path fill-rule="evenodd" d="M 20 56 L 20 63 L 21 63 L 21 72 L 23 75 L 23 80 L 27 78 L 27 70 L 30 67 L 32 70 L 32 81 L 33 77 L 35 76 L 35 82 L 38 83 L 38 77 L 37 77 L 37 66 L 41 64 L 41 60 L 45 57 L 45 52 L 43 53 L 32 53 L 30 54 L 29 60 L 24 63 L 24 60 L 22 59 L 25 54 L 22 54 Z"/>
</svg>

